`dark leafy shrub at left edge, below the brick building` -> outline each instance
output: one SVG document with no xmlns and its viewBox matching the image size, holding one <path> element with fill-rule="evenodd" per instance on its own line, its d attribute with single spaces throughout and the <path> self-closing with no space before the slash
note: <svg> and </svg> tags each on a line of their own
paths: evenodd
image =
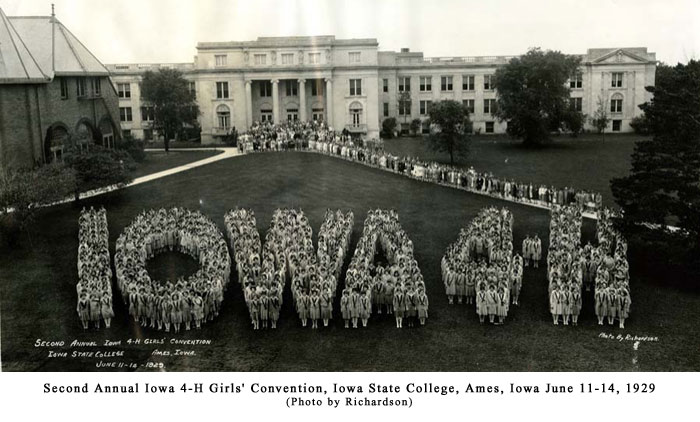
<svg viewBox="0 0 700 422">
<path fill-rule="evenodd" d="M 0 221 L 7 243 L 17 242 L 40 206 L 65 199 L 74 189 L 75 173 L 61 164 L 0 170 Z"/>
</svg>

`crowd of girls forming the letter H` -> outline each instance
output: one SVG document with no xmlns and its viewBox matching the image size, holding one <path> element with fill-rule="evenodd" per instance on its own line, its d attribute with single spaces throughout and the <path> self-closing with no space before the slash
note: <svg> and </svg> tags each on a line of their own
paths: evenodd
<svg viewBox="0 0 700 422">
<path fill-rule="evenodd" d="M 632 303 L 629 289 L 627 243 L 611 222 L 612 212 L 598 214 L 598 245 L 581 246 L 581 210 L 560 207 L 552 210 L 550 246 L 547 256 L 550 312 L 555 325 L 578 324 L 584 290 L 593 290 L 598 324 L 625 327 Z"/>
</svg>

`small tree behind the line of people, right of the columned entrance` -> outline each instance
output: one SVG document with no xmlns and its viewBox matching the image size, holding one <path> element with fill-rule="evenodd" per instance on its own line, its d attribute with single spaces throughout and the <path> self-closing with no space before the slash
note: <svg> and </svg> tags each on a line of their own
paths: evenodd
<svg viewBox="0 0 700 422">
<path fill-rule="evenodd" d="M 450 165 L 454 165 L 455 156 L 464 157 L 469 152 L 469 111 L 457 101 L 443 100 L 434 103 L 428 113 L 435 128 L 428 141 L 433 150 L 450 154 Z"/>
</svg>

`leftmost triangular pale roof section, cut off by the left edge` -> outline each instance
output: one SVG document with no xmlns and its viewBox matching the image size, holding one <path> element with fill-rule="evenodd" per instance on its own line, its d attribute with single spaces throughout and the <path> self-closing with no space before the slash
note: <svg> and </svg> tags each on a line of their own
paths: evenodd
<svg viewBox="0 0 700 422">
<path fill-rule="evenodd" d="M 0 9 L 0 83 L 39 83 L 50 80 L 39 67 L 12 22 Z"/>
</svg>

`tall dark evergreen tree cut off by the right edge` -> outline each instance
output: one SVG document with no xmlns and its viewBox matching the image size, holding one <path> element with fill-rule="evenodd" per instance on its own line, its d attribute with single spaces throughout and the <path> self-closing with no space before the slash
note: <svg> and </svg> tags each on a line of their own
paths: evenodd
<svg viewBox="0 0 700 422">
<path fill-rule="evenodd" d="M 700 263 L 700 62 L 664 69 L 646 89 L 654 97 L 640 108 L 653 138 L 636 143 L 630 175 L 611 181 L 620 227 L 677 226 L 669 242 Z"/>
</svg>

